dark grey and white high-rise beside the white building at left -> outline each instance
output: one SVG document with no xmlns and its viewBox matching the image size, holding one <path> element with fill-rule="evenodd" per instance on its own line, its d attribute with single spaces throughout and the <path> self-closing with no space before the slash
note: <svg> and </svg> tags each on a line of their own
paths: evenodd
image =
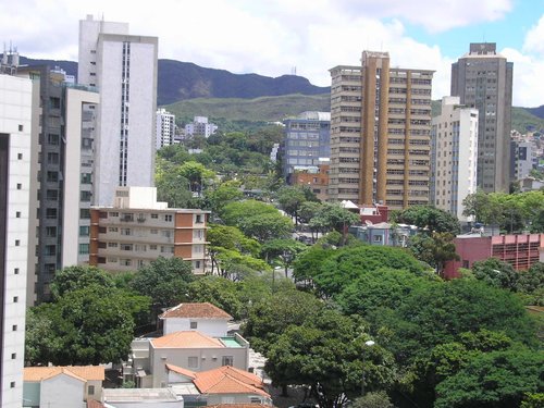
<svg viewBox="0 0 544 408">
<path fill-rule="evenodd" d="M 27 304 L 33 306 L 49 299 L 57 270 L 88 261 L 98 94 L 45 65 L 20 67 L 17 75 L 38 84 L 30 159 L 28 259 L 35 261 Z"/>
</svg>

